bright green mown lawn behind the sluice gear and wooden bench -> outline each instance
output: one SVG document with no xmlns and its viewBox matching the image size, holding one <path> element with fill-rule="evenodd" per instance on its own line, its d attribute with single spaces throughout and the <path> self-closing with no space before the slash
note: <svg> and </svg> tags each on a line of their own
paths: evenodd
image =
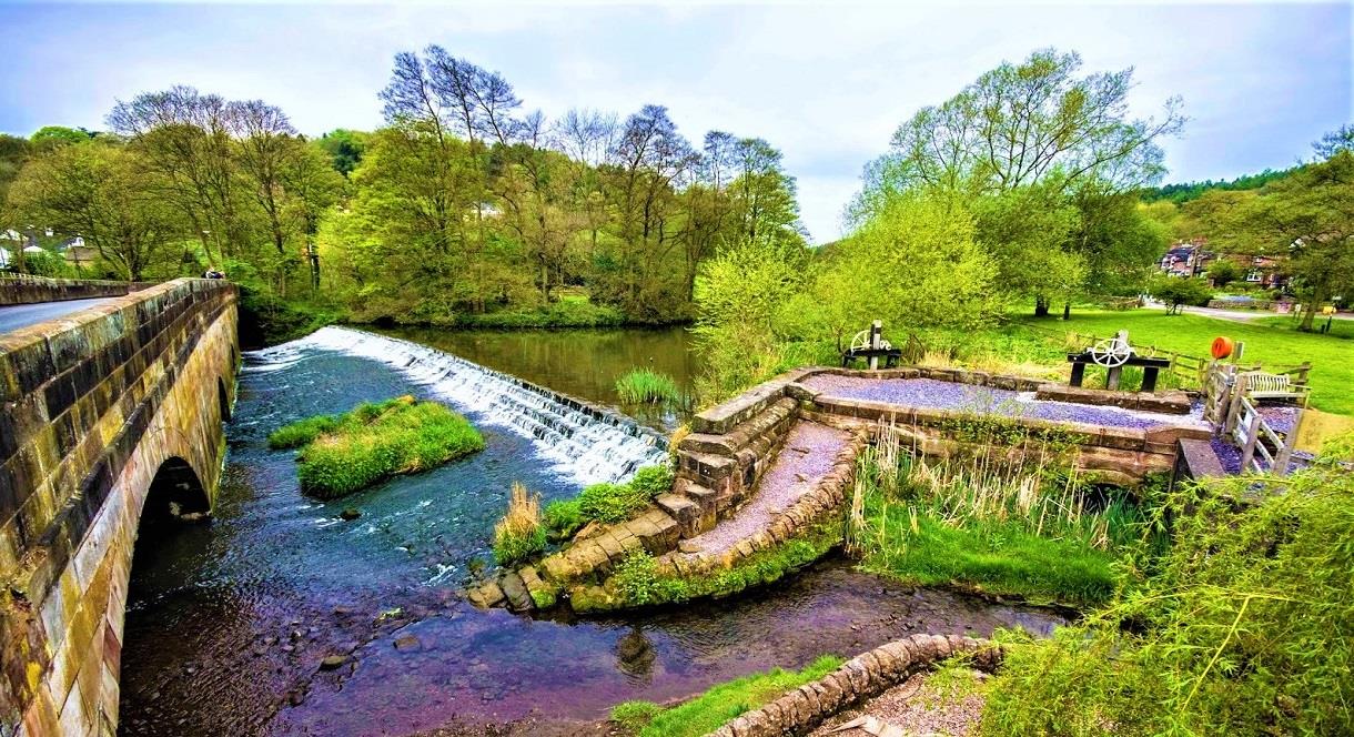
<svg viewBox="0 0 1354 737">
<path fill-rule="evenodd" d="M 1339 321 L 1336 321 L 1339 322 Z M 1246 343 L 1243 363 L 1282 368 L 1311 362 L 1312 406 L 1336 415 L 1354 415 L 1354 322 L 1346 321 L 1332 335 L 1303 333 L 1284 317 L 1262 318 L 1258 324 L 1235 322 L 1198 314 L 1166 314 L 1159 308 L 1128 312 L 1074 310 L 1072 318 L 1022 316 L 1017 324 L 1066 329 L 1109 337 L 1127 329 L 1136 345 L 1208 356 L 1213 339 L 1225 335 Z"/>
</svg>

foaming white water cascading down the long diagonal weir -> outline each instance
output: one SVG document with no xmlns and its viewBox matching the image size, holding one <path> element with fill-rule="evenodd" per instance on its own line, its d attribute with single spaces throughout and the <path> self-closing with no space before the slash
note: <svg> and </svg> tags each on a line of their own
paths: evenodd
<svg viewBox="0 0 1354 737">
<path fill-rule="evenodd" d="M 366 331 L 321 328 L 259 351 L 256 355 L 268 363 L 255 370 L 291 364 L 307 350 L 336 351 L 391 366 L 437 398 L 478 415 L 478 421 L 532 439 L 542 458 L 580 484 L 623 481 L 636 469 L 668 458 L 662 436 L 628 417 L 436 348 Z"/>
</svg>

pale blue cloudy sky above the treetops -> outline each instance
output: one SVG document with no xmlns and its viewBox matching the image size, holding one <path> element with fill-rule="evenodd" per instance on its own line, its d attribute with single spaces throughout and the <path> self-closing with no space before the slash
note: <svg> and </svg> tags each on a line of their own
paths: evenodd
<svg viewBox="0 0 1354 737">
<path fill-rule="evenodd" d="M 104 127 L 118 99 L 188 84 L 280 106 L 310 135 L 380 125 L 397 51 L 431 43 L 501 72 L 528 110 L 663 104 L 784 152 L 804 225 L 837 238 L 861 168 L 918 108 L 1002 61 L 1075 50 L 1135 68 L 1135 115 L 1183 99 L 1169 182 L 1289 167 L 1354 121 L 1350 3 L 401 5 L 0 0 L 0 131 Z"/>
</svg>

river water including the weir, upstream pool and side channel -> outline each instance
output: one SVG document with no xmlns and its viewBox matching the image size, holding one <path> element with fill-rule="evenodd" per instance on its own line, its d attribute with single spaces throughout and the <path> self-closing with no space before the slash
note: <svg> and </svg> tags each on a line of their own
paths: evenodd
<svg viewBox="0 0 1354 737">
<path fill-rule="evenodd" d="M 138 542 L 121 732 L 470 734 L 520 719 L 569 725 L 620 700 L 678 699 L 914 631 L 1043 633 L 1060 622 L 911 589 L 841 560 L 726 602 L 623 618 L 532 619 L 464 604 L 455 591 L 489 561 L 513 481 L 550 500 L 623 478 L 661 457 L 654 429 L 681 416 L 681 408 L 650 412 L 636 425 L 513 377 L 603 405 L 617 405 L 611 385 L 632 366 L 691 386 L 681 331 L 529 336 L 326 328 L 246 354 L 215 519 Z M 291 452 L 267 447 L 280 424 L 403 393 L 456 406 L 481 427 L 486 450 L 322 504 L 299 493 Z M 341 522 L 349 507 L 362 516 Z M 349 660 L 322 671 L 333 654 Z"/>
</svg>

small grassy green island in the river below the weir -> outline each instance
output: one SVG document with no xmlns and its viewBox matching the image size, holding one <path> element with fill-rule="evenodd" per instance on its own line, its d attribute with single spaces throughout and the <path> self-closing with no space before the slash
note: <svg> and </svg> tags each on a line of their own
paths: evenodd
<svg viewBox="0 0 1354 737">
<path fill-rule="evenodd" d="M 485 440 L 444 405 L 398 397 L 291 423 L 275 429 L 268 446 L 299 447 L 301 490 L 334 499 L 483 450 Z"/>
</svg>

